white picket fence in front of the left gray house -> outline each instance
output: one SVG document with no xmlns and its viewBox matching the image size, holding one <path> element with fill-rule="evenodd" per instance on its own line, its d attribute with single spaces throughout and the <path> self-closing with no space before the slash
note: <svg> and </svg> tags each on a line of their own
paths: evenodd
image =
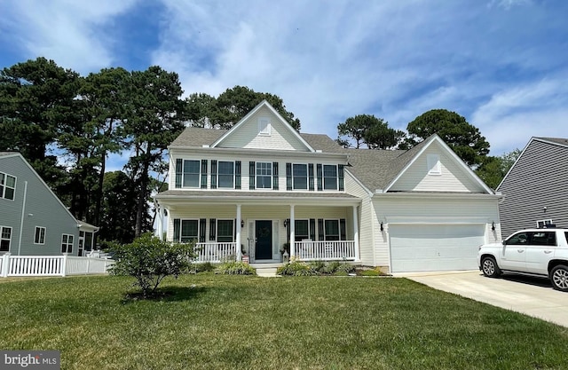
<svg viewBox="0 0 568 370">
<path fill-rule="evenodd" d="M 67 276 L 106 273 L 113 260 L 75 256 L 11 256 L 0 257 L 0 277 Z"/>
</svg>

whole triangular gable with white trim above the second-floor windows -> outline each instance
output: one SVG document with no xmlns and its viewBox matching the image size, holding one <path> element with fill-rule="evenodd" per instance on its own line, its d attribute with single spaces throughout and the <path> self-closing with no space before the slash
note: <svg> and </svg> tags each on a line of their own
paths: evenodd
<svg viewBox="0 0 568 370">
<path fill-rule="evenodd" d="M 209 147 L 317 152 L 266 100 Z"/>
</svg>

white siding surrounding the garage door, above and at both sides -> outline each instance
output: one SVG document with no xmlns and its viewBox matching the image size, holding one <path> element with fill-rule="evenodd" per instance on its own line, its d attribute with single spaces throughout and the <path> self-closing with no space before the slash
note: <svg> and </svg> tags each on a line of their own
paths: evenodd
<svg viewBox="0 0 568 370">
<path fill-rule="evenodd" d="M 452 197 L 391 197 L 376 196 L 375 230 L 383 221 L 384 232 L 377 232 L 375 238 L 375 264 L 390 265 L 389 225 L 390 224 L 485 224 L 485 242 L 501 240 L 498 202 L 484 195 L 473 198 Z M 495 231 L 492 231 L 492 223 Z"/>
</svg>

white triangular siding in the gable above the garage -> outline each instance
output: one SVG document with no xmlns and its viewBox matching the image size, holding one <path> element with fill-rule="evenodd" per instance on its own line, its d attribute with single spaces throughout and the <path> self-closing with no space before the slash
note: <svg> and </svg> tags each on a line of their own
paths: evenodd
<svg viewBox="0 0 568 370">
<path fill-rule="evenodd" d="M 437 154 L 440 161 L 440 175 L 429 175 L 428 156 Z M 390 191 L 397 192 L 485 192 L 474 181 L 460 163 L 438 145 L 432 143 L 416 158 L 414 163 L 392 185 Z"/>
</svg>

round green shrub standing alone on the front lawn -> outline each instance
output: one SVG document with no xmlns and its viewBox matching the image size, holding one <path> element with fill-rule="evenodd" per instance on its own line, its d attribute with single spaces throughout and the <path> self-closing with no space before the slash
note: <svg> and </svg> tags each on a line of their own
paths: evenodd
<svg viewBox="0 0 568 370">
<path fill-rule="evenodd" d="M 135 278 L 134 285 L 142 289 L 144 298 L 154 296 L 166 276 L 177 278 L 187 272 L 193 258 L 193 243 L 170 243 L 151 233 L 140 236 L 130 244 L 114 244 L 111 250 L 115 263 L 109 271 L 114 275 Z"/>
</svg>

